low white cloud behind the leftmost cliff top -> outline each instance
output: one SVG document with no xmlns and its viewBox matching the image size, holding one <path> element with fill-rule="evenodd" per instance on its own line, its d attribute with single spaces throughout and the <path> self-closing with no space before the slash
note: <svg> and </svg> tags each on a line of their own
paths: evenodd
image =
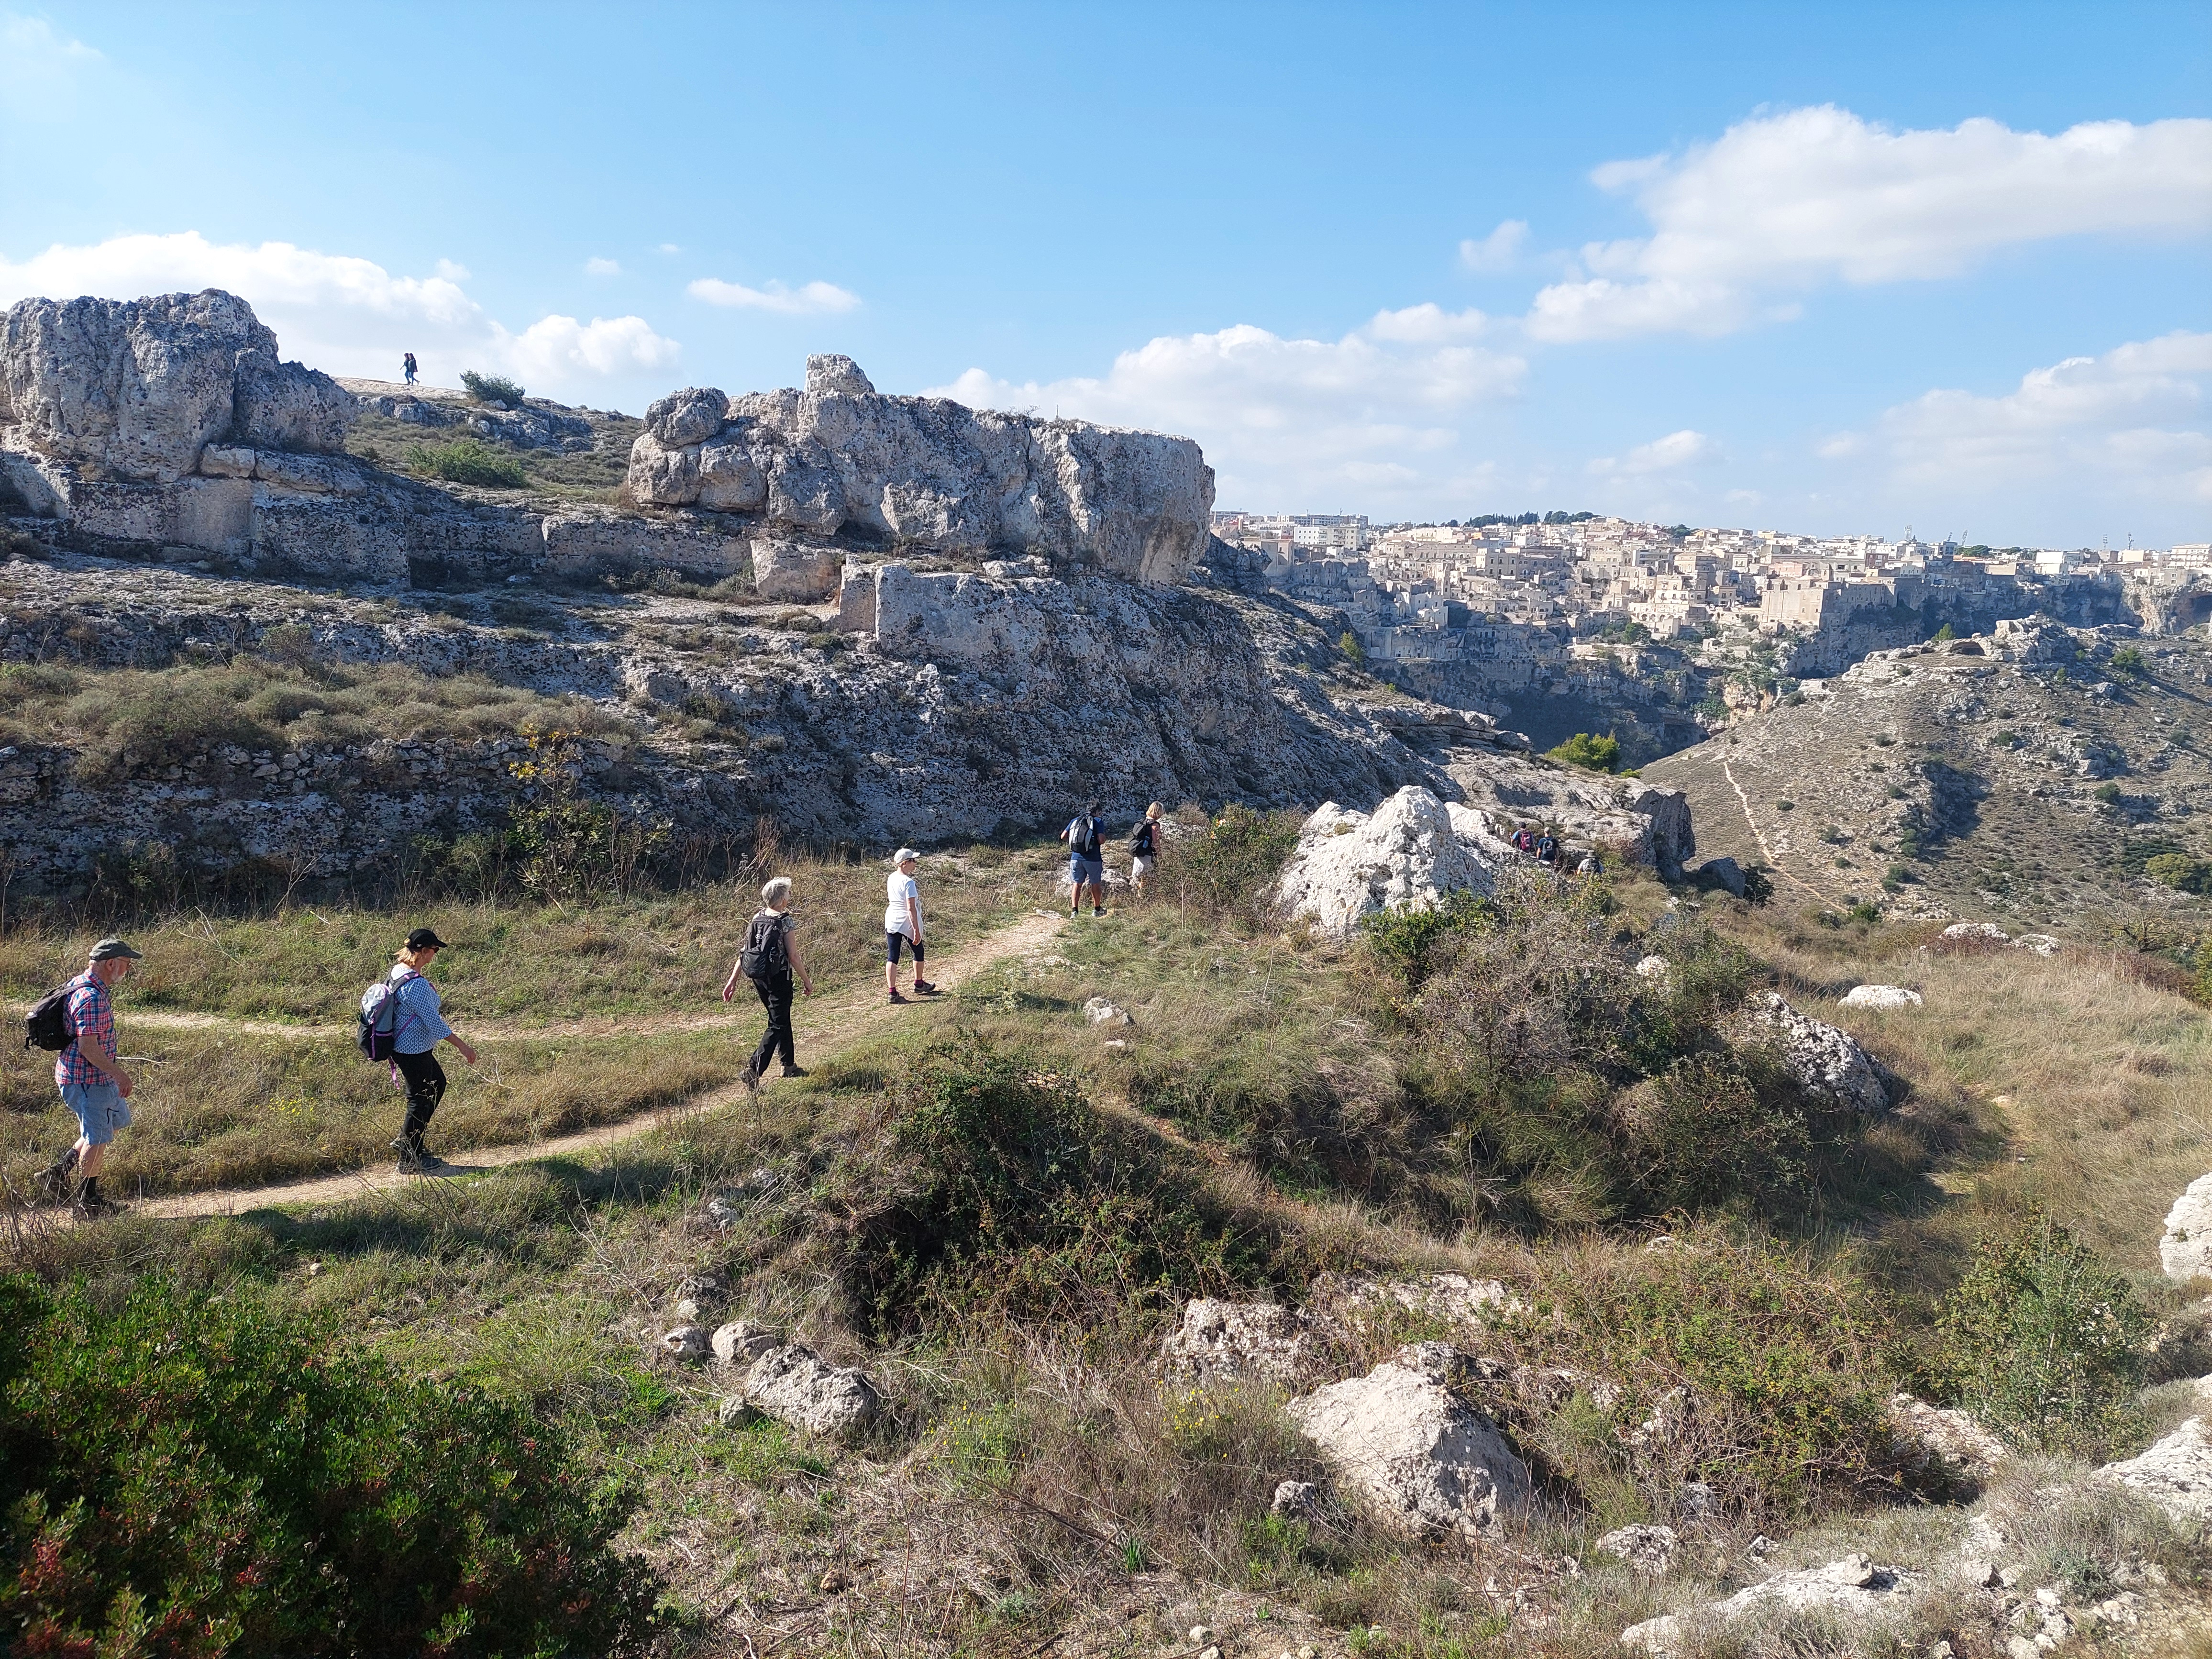
<svg viewBox="0 0 2212 1659">
<path fill-rule="evenodd" d="M 431 276 L 394 276 L 369 259 L 288 241 L 210 243 L 184 230 L 0 259 L 0 305 L 29 294 L 137 299 L 228 288 L 276 330 L 285 356 L 330 374 L 398 378 L 400 354 L 414 352 L 431 385 L 458 385 L 462 369 L 500 369 L 546 396 L 604 394 L 608 380 L 677 361 L 677 343 L 641 316 L 542 316 L 515 334 L 469 299 L 467 279 L 467 268 L 447 259 Z"/>
</svg>

